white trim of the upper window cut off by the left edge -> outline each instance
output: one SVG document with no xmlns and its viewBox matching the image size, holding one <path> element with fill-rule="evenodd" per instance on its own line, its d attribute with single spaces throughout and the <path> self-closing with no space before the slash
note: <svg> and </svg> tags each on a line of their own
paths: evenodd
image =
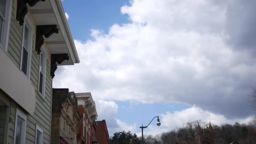
<svg viewBox="0 0 256 144">
<path fill-rule="evenodd" d="M 8 48 L 12 3 L 13 3 L 13 0 L 6 0 L 5 24 L 3 27 L 2 43 L 0 43 L 0 47 L 5 51 L 5 53 L 7 52 L 7 48 Z"/>
</svg>

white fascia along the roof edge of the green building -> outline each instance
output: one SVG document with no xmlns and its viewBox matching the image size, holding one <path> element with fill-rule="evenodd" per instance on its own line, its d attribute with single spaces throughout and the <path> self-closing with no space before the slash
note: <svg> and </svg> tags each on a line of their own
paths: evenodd
<svg viewBox="0 0 256 144">
<path fill-rule="evenodd" d="M 69 28 L 69 24 L 67 22 L 67 19 L 66 19 L 66 16 L 65 16 L 65 12 L 64 12 L 64 9 L 63 9 L 63 6 L 61 4 L 61 0 L 51 0 L 51 3 L 53 4 L 53 1 L 56 2 L 56 6 L 58 8 L 58 11 L 60 13 L 60 16 L 61 16 L 61 22 L 64 24 L 64 28 L 66 30 L 66 34 L 68 36 L 68 39 L 69 39 L 69 43 L 71 45 L 71 48 L 72 48 L 72 54 L 74 55 L 75 57 L 75 61 L 74 63 L 80 63 L 80 59 L 78 57 L 78 54 L 77 54 L 77 50 L 75 48 L 75 43 L 74 43 L 74 40 L 73 40 L 73 37 L 72 37 L 72 34 L 71 34 L 71 31 L 70 31 L 70 28 Z M 56 18 L 58 19 L 58 16 L 56 16 Z M 68 45 L 67 45 L 68 46 Z M 68 46 L 69 47 L 69 46 Z M 72 54 L 70 53 L 70 56 L 72 58 Z"/>
</svg>

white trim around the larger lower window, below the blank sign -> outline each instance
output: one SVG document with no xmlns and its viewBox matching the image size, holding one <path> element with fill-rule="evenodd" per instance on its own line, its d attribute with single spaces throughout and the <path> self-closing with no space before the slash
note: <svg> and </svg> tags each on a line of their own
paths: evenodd
<svg viewBox="0 0 256 144">
<path fill-rule="evenodd" d="M 20 109 L 16 109 L 16 117 L 15 117 L 15 127 L 14 127 L 14 138 L 13 138 L 13 144 L 15 144 L 16 142 L 16 126 L 17 126 L 17 118 L 21 117 L 23 119 L 22 122 L 22 132 L 21 132 L 21 144 L 25 144 L 25 140 L 26 140 L 26 128 L 27 128 L 27 115 L 22 112 Z"/>
</svg>

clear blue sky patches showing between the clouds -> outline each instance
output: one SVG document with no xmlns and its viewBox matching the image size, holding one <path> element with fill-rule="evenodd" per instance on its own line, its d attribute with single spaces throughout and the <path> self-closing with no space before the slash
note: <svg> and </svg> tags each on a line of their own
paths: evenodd
<svg viewBox="0 0 256 144">
<path fill-rule="evenodd" d="M 128 16 L 120 12 L 123 5 L 129 4 L 128 0 L 115 0 L 114 3 L 113 0 L 80 0 L 78 3 L 79 5 L 71 0 L 62 2 L 65 12 L 69 15 L 68 23 L 75 40 L 87 41 L 92 39 L 91 29 L 107 32 L 113 24 L 129 22 Z M 166 109 L 173 112 L 188 108 L 186 104 L 177 103 L 115 102 L 118 105 L 117 118 L 125 123 L 137 123 L 138 125 L 142 123 L 147 125 L 153 117 L 166 112 Z M 101 118 L 104 119 L 104 117 Z M 139 131 L 139 127 L 137 131 Z"/>
</svg>

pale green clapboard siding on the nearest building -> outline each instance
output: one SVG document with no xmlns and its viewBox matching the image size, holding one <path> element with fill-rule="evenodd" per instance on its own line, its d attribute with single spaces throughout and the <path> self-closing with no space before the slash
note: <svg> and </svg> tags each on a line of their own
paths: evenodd
<svg viewBox="0 0 256 144">
<path fill-rule="evenodd" d="M 16 21 L 16 5 L 17 0 L 13 0 L 12 5 L 12 13 L 11 13 L 11 25 L 10 25 L 10 33 L 9 33 L 9 41 L 8 41 L 8 56 L 16 65 L 16 67 L 20 67 L 21 61 L 21 44 L 22 44 L 22 32 L 23 27 L 19 25 L 18 21 Z M 36 28 L 34 28 L 36 30 Z M 36 133 L 36 125 L 39 125 L 43 128 L 43 143 L 50 144 L 50 131 L 51 131 L 51 89 L 52 89 L 52 78 L 50 76 L 50 60 L 48 58 L 46 65 L 46 80 L 45 80 L 45 98 L 42 98 L 38 94 L 38 74 L 39 74 L 39 55 L 37 55 L 35 51 L 35 31 L 33 35 L 32 41 L 32 52 L 31 52 L 31 67 L 30 67 L 30 80 L 32 85 L 35 87 L 36 93 L 36 107 L 33 115 L 27 114 L 27 128 L 26 128 L 26 144 L 35 144 L 35 133 Z M 0 93 L 1 94 L 1 93 Z M 8 130 L 8 143 L 13 143 L 14 131 L 15 131 L 15 118 L 16 118 L 16 108 L 22 110 L 18 104 L 8 98 L 6 99 L 11 103 L 11 113 L 10 117 L 12 121 L 9 123 Z M 1 113 L 2 111 L 0 111 Z M 1 127 L 2 123 L 4 123 L 0 119 L 0 144 L 2 142 L 2 131 Z"/>
</svg>

